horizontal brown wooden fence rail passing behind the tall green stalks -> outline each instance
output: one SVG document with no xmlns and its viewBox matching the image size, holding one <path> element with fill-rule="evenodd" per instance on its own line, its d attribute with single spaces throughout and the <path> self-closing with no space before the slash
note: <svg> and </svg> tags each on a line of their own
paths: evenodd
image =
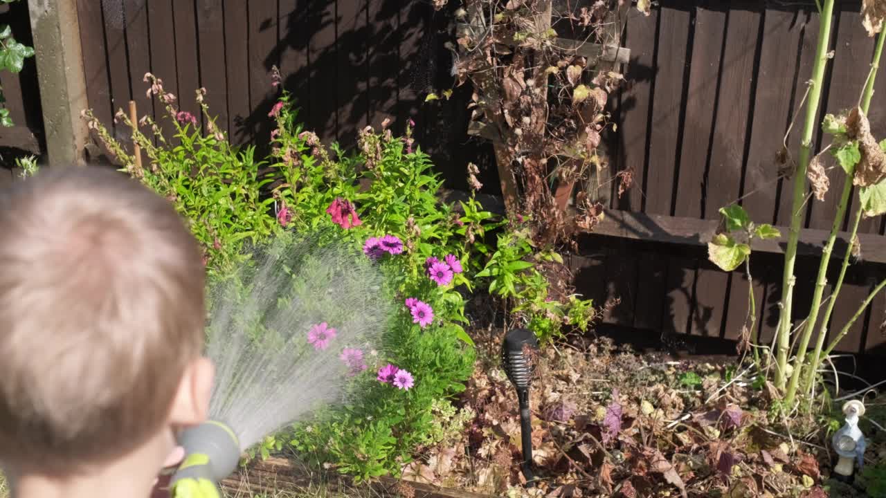
<svg viewBox="0 0 886 498">
<path fill-rule="evenodd" d="M 607 209 L 602 221 L 595 227 L 591 235 L 632 238 L 664 244 L 706 246 L 717 231 L 717 220 L 699 220 L 659 214 L 633 213 Z M 755 240 L 751 249 L 760 253 L 783 254 L 788 242 L 788 228 L 776 227 L 782 237 L 770 240 Z M 886 263 L 886 237 L 875 234 L 858 234 L 861 244 L 863 261 Z M 840 232 L 837 236 L 833 258 L 842 259 L 849 234 Z M 828 239 L 828 230 L 803 230 L 800 232 L 800 243 L 797 253 L 807 256 L 821 254 Z"/>
</svg>

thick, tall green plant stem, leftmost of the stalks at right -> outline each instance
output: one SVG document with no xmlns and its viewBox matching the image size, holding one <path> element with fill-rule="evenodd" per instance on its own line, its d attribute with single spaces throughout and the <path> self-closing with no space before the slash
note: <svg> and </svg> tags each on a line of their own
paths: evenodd
<svg viewBox="0 0 886 498">
<path fill-rule="evenodd" d="M 794 173 L 794 198 L 791 204 L 790 232 L 788 247 L 784 254 L 784 275 L 781 279 L 781 316 L 778 327 L 778 368 L 775 370 L 775 385 L 780 389 L 785 386 L 785 370 L 788 366 L 791 330 L 791 299 L 794 290 L 794 263 L 797 260 L 797 241 L 800 237 L 800 222 L 803 221 L 802 207 L 806 194 L 806 168 L 809 166 L 812 149 L 812 134 L 815 131 L 816 115 L 819 110 L 821 84 L 824 79 L 825 66 L 828 64 L 828 43 L 830 41 L 831 18 L 834 12 L 834 0 L 825 0 L 821 10 L 819 41 L 815 51 L 815 65 L 812 66 L 812 80 L 809 94 L 809 105 L 806 107 L 806 119 L 803 136 L 800 141 L 800 160 L 797 172 Z"/>
</svg>

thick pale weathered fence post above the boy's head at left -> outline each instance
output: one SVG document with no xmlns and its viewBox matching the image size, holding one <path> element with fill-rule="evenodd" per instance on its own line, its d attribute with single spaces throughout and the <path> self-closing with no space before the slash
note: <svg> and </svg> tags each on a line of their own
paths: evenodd
<svg viewBox="0 0 886 498">
<path fill-rule="evenodd" d="M 74 0 L 27 0 L 50 166 L 82 165 L 89 105 Z"/>
</svg>

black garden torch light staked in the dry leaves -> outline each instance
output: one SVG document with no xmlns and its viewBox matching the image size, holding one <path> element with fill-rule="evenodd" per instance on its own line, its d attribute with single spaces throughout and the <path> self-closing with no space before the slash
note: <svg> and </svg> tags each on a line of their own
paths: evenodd
<svg viewBox="0 0 886 498">
<path fill-rule="evenodd" d="M 514 329 L 504 337 L 501 345 L 501 364 L 510 382 L 517 387 L 520 402 L 520 439 L 523 443 L 523 476 L 526 486 L 532 487 L 532 419 L 529 412 L 529 384 L 535 364 L 539 341 L 532 331 Z"/>
</svg>

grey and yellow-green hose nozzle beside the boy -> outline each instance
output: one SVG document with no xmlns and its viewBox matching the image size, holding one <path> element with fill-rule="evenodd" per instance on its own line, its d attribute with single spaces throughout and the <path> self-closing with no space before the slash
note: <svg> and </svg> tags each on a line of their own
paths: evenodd
<svg viewBox="0 0 886 498">
<path fill-rule="evenodd" d="M 169 491 L 174 498 L 221 498 L 218 483 L 237 470 L 240 443 L 227 424 L 210 420 L 182 432 L 185 457 Z"/>
</svg>

